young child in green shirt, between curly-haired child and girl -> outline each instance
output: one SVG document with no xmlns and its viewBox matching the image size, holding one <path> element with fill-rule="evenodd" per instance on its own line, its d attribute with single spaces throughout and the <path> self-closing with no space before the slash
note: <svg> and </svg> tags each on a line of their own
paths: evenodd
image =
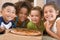
<svg viewBox="0 0 60 40">
<path fill-rule="evenodd" d="M 42 10 L 40 7 L 37 6 L 31 9 L 30 18 L 31 21 L 27 24 L 27 28 L 43 32 Z"/>
</svg>

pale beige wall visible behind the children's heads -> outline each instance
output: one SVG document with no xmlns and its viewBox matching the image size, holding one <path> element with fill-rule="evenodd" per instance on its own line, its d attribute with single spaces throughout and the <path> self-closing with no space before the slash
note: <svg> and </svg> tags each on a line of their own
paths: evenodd
<svg viewBox="0 0 60 40">
<path fill-rule="evenodd" d="M 0 9 L 1 9 L 2 4 L 5 3 L 5 2 L 15 3 L 17 1 L 24 1 L 24 0 L 0 0 Z M 34 0 L 33 3 L 34 3 L 33 6 L 41 6 L 41 7 L 43 7 L 45 2 L 44 2 L 44 0 Z"/>
</svg>

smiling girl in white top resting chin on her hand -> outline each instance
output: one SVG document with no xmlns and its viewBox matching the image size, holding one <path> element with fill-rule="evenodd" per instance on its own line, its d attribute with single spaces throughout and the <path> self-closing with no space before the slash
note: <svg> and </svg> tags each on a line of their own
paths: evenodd
<svg viewBox="0 0 60 40">
<path fill-rule="evenodd" d="M 60 17 L 58 17 L 58 8 L 55 3 L 47 3 L 43 7 L 44 26 L 49 35 L 60 40 Z"/>
</svg>

